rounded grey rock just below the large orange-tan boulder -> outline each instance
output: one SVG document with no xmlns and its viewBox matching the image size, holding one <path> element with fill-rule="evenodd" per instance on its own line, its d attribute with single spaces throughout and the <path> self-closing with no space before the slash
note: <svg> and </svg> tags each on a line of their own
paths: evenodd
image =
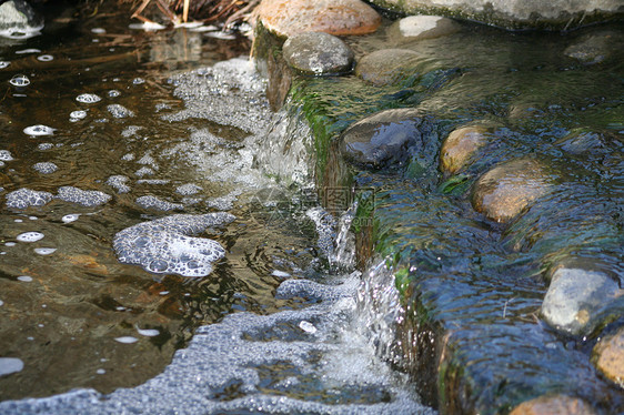
<svg viewBox="0 0 624 415">
<path fill-rule="evenodd" d="M 306 74 L 340 74 L 353 67 L 353 52 L 339 38 L 324 32 L 290 37 L 282 49 L 285 61 Z"/>
</svg>

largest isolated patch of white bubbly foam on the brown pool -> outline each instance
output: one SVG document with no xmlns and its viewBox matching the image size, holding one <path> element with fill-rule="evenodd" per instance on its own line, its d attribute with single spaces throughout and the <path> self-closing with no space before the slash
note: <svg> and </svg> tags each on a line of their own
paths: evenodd
<svg viewBox="0 0 624 415">
<path fill-rule="evenodd" d="M 118 232 L 113 247 L 120 262 L 141 265 L 149 272 L 205 276 L 225 250 L 215 241 L 190 235 L 233 220 L 232 214 L 224 212 L 165 216 Z"/>
</svg>

